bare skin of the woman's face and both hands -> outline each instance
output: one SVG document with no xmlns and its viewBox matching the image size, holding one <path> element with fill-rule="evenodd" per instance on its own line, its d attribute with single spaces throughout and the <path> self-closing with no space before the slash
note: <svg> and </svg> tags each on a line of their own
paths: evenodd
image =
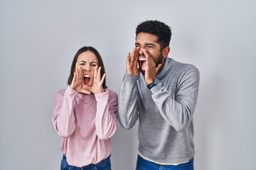
<svg viewBox="0 0 256 170">
<path fill-rule="evenodd" d="M 101 67 L 98 67 L 98 60 L 95 54 L 91 51 L 82 52 L 75 63 L 74 77 L 70 88 L 80 94 L 87 95 L 104 92 L 102 84 L 106 74 L 101 77 L 100 70 Z M 88 84 L 84 83 L 85 74 L 90 77 Z"/>
</svg>

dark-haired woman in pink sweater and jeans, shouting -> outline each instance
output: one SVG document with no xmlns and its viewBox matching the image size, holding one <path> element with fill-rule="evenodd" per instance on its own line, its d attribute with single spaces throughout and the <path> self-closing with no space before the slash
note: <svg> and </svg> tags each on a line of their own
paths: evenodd
<svg viewBox="0 0 256 170">
<path fill-rule="evenodd" d="M 107 89 L 100 53 L 82 47 L 73 59 L 68 87 L 55 94 L 53 125 L 63 137 L 60 169 L 111 169 L 117 101 L 117 94 Z"/>
</svg>

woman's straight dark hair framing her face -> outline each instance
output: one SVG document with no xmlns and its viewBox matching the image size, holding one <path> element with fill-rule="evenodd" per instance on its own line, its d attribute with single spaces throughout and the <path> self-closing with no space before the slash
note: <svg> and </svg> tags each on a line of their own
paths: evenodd
<svg viewBox="0 0 256 170">
<path fill-rule="evenodd" d="M 99 67 L 102 67 L 101 68 L 101 71 L 100 71 L 100 75 L 101 77 L 103 76 L 103 74 L 105 74 L 105 67 L 104 67 L 104 64 L 103 64 L 103 60 L 102 60 L 102 57 L 100 56 L 100 53 L 94 48 L 94 47 L 81 47 L 78 52 L 75 54 L 75 57 L 73 59 L 73 62 L 71 64 L 71 69 L 70 69 L 70 76 L 68 77 L 68 85 L 70 85 L 72 83 L 72 80 L 73 80 L 73 77 L 74 77 L 74 69 L 75 69 L 75 63 L 77 62 L 78 60 L 78 56 L 82 53 L 82 52 L 86 52 L 86 51 L 90 51 L 90 52 L 93 52 L 95 54 L 95 56 L 97 57 L 97 60 L 98 60 L 98 66 Z M 103 89 L 107 89 L 107 86 L 106 86 L 106 77 L 105 77 L 105 80 L 102 84 L 102 87 Z"/>
</svg>

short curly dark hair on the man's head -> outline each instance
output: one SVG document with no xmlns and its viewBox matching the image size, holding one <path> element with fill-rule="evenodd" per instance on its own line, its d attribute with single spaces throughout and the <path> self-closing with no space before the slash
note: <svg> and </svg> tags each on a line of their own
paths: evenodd
<svg viewBox="0 0 256 170">
<path fill-rule="evenodd" d="M 136 28 L 136 38 L 139 33 L 150 33 L 158 37 L 157 42 L 161 45 L 161 49 L 169 46 L 171 41 L 171 28 L 160 21 L 144 21 L 139 23 Z"/>
</svg>

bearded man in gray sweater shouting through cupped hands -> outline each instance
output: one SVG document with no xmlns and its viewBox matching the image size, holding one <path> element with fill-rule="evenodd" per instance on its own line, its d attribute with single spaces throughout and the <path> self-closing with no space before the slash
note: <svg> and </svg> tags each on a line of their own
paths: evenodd
<svg viewBox="0 0 256 170">
<path fill-rule="evenodd" d="M 119 123 L 129 130 L 139 119 L 137 170 L 193 169 L 199 72 L 168 57 L 170 40 L 171 29 L 165 23 L 144 21 L 127 55 Z"/>
</svg>

